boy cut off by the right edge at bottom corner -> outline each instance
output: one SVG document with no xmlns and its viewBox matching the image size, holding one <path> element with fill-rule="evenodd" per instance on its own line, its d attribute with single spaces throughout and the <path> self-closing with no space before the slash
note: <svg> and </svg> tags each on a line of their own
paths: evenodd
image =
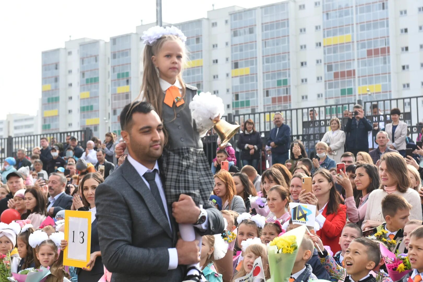
<svg viewBox="0 0 423 282">
<path fill-rule="evenodd" d="M 413 271 L 398 282 L 421 282 L 423 279 L 423 226 L 417 227 L 410 234 L 408 259 Z"/>
</svg>

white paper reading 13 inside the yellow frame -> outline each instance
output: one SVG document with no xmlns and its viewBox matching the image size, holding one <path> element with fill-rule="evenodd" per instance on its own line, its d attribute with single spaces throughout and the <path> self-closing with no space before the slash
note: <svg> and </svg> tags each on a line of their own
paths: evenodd
<svg viewBox="0 0 423 282">
<path fill-rule="evenodd" d="M 90 222 L 91 225 L 91 222 Z M 88 219 L 69 216 L 69 240 L 68 240 L 68 259 L 82 260 L 87 259 L 88 246 Z"/>
</svg>

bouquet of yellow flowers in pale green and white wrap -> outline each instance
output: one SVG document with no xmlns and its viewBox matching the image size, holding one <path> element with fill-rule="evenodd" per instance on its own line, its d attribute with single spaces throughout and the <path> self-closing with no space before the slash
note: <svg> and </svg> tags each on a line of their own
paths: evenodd
<svg viewBox="0 0 423 282">
<path fill-rule="evenodd" d="M 270 267 L 270 279 L 268 282 L 288 282 L 294 267 L 298 248 L 301 246 L 306 226 L 289 230 L 283 235 L 276 237 L 267 246 Z"/>
</svg>

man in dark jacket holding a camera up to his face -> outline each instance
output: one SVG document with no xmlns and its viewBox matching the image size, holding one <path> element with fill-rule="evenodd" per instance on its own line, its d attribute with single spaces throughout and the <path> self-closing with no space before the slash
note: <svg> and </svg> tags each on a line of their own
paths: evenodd
<svg viewBox="0 0 423 282">
<path fill-rule="evenodd" d="M 345 125 L 345 132 L 349 133 L 345 143 L 347 151 L 357 156 L 358 152 L 369 152 L 368 131 L 373 130 L 373 126 L 371 121 L 364 117 L 361 105 L 354 105 L 353 110 L 354 118 L 353 113 L 350 113 Z"/>
</svg>

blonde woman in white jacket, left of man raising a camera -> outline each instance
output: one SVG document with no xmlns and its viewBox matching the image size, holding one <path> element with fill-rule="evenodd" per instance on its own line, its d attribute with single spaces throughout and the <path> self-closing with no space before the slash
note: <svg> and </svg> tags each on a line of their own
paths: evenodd
<svg viewBox="0 0 423 282">
<path fill-rule="evenodd" d="M 341 155 L 343 154 L 343 145 L 345 143 L 345 132 L 341 130 L 341 122 L 338 118 L 331 118 L 330 131 L 327 131 L 322 142 L 329 145 L 328 155 L 335 163 L 341 162 Z"/>
</svg>

